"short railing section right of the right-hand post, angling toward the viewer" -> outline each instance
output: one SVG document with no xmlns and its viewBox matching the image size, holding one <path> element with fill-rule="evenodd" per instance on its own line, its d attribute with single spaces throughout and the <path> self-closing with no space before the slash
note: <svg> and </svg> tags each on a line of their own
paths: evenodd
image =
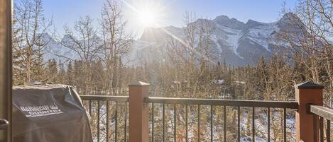
<svg viewBox="0 0 333 142">
<path fill-rule="evenodd" d="M 320 105 L 310 105 L 310 112 L 313 114 L 314 126 L 314 142 L 317 142 L 318 138 L 320 142 L 331 141 L 331 122 L 333 121 L 333 110 L 328 107 L 323 107 Z M 317 121 L 319 123 L 319 132 L 317 131 Z M 326 124 L 324 124 L 326 120 Z M 326 126 L 326 129 L 324 127 Z"/>
</svg>

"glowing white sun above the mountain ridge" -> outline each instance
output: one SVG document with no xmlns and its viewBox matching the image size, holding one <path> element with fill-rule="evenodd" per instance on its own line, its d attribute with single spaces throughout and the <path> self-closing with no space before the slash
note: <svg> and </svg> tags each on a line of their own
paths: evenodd
<svg viewBox="0 0 333 142">
<path fill-rule="evenodd" d="M 138 20 L 144 27 L 153 26 L 155 23 L 155 11 L 141 11 L 138 13 Z"/>
</svg>

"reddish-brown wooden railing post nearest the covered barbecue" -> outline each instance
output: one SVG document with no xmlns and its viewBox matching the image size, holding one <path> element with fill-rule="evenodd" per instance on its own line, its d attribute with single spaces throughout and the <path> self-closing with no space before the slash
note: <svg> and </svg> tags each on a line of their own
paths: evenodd
<svg viewBox="0 0 333 142">
<path fill-rule="evenodd" d="M 148 142 L 148 83 L 138 81 L 129 85 L 129 142 Z"/>
</svg>

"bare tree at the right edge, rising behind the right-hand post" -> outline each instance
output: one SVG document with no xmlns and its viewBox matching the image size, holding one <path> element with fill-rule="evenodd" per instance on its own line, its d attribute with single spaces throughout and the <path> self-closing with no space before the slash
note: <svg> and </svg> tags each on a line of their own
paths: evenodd
<svg viewBox="0 0 333 142">
<path fill-rule="evenodd" d="M 332 10 L 330 0 L 297 1 L 293 14 L 287 14 L 291 28 L 285 30 L 283 35 L 295 54 L 293 59 L 310 71 L 310 76 L 300 75 L 327 85 L 326 94 L 333 93 Z M 332 100 L 332 95 L 325 97 Z"/>
</svg>

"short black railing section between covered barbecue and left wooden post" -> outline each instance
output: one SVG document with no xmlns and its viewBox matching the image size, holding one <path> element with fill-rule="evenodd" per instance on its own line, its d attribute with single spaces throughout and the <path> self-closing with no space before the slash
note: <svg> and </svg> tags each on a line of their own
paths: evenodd
<svg viewBox="0 0 333 142">
<path fill-rule="evenodd" d="M 127 141 L 128 96 L 80 95 L 80 97 L 92 117 L 90 122 L 94 141 Z"/>
</svg>

